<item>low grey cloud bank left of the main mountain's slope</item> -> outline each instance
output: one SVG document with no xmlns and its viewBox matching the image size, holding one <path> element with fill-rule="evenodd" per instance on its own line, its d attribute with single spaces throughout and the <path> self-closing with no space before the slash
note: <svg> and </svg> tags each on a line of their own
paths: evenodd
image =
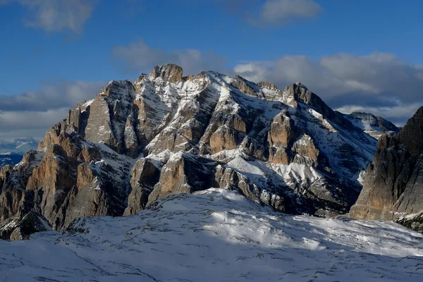
<svg viewBox="0 0 423 282">
<path fill-rule="evenodd" d="M 0 137 L 42 139 L 55 123 L 66 118 L 68 109 L 92 99 L 104 82 L 68 82 L 44 84 L 37 92 L 16 96 L 0 95 Z"/>
</svg>

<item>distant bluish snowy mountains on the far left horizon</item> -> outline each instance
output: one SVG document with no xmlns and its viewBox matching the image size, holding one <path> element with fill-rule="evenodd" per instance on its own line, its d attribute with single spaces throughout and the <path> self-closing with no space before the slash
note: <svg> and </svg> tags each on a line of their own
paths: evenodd
<svg viewBox="0 0 423 282">
<path fill-rule="evenodd" d="M 0 141 L 0 167 L 15 165 L 22 160 L 23 154 L 37 149 L 38 142 L 32 138 L 17 138 L 11 142 Z"/>
</svg>

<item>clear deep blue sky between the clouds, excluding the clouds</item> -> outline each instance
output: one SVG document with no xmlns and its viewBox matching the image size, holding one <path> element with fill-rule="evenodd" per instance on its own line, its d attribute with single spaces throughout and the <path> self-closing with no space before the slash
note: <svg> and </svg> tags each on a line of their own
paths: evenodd
<svg viewBox="0 0 423 282">
<path fill-rule="evenodd" d="M 55 80 L 135 79 L 111 63 L 111 49 L 142 39 L 166 51 L 198 49 L 239 61 L 271 61 L 284 55 L 321 56 L 374 51 L 423 64 L 423 1 L 317 1 L 324 13 L 285 26 L 260 27 L 243 18 L 256 1 L 226 8 L 216 1 L 100 1 L 80 34 L 25 27 L 25 8 L 0 6 L 0 94 L 39 90 Z M 264 2 L 264 1 L 262 1 Z M 234 11 L 235 10 L 235 11 Z"/>
</svg>

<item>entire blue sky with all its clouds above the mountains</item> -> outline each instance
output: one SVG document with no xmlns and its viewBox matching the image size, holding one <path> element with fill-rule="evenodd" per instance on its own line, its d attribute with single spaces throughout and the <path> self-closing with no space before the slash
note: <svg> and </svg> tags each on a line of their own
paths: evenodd
<svg viewBox="0 0 423 282">
<path fill-rule="evenodd" d="M 401 124 L 423 104 L 422 11 L 419 0 L 0 0 L 0 139 L 42 137 L 105 82 L 162 63 L 301 81 L 335 109 Z"/>
</svg>

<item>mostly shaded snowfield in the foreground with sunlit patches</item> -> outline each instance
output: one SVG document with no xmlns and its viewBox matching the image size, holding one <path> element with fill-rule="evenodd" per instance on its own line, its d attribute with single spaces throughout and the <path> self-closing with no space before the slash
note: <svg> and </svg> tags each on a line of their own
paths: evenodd
<svg viewBox="0 0 423 282">
<path fill-rule="evenodd" d="M 122 218 L 0 240 L 1 281 L 419 281 L 423 235 L 288 216 L 236 192 L 178 195 Z"/>
</svg>

